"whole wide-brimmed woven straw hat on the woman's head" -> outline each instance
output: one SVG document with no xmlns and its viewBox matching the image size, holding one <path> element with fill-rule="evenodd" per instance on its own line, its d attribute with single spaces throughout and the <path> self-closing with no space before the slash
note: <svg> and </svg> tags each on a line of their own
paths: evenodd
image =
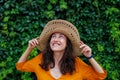
<svg viewBox="0 0 120 80">
<path fill-rule="evenodd" d="M 38 38 L 37 48 L 40 51 L 45 50 L 46 44 L 48 43 L 48 39 L 55 32 L 60 32 L 66 35 L 70 39 L 73 45 L 74 54 L 75 55 L 80 54 L 80 48 L 79 48 L 80 36 L 79 36 L 78 30 L 72 23 L 65 20 L 61 20 L 61 19 L 49 21 L 45 25 L 42 33 Z"/>
</svg>

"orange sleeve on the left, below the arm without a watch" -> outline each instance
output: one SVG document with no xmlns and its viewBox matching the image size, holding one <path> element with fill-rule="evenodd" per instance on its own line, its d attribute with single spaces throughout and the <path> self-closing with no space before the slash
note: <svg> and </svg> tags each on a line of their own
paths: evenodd
<svg viewBox="0 0 120 80">
<path fill-rule="evenodd" d="M 36 65 L 40 63 L 40 56 L 41 54 L 37 55 L 36 57 L 32 58 L 31 60 L 16 63 L 17 70 L 24 71 L 24 72 L 34 72 L 36 69 Z"/>
</svg>

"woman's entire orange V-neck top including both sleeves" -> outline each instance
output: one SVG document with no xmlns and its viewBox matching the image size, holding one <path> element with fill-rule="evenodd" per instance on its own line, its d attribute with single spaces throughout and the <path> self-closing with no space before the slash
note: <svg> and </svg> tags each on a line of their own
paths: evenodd
<svg viewBox="0 0 120 80">
<path fill-rule="evenodd" d="M 105 70 L 104 73 L 98 73 L 77 57 L 75 61 L 76 71 L 72 75 L 66 74 L 62 75 L 59 79 L 55 79 L 50 74 L 50 71 L 45 71 L 39 66 L 41 58 L 42 53 L 26 62 L 16 63 L 16 68 L 24 72 L 34 72 L 37 80 L 104 80 L 107 75 Z"/>
</svg>

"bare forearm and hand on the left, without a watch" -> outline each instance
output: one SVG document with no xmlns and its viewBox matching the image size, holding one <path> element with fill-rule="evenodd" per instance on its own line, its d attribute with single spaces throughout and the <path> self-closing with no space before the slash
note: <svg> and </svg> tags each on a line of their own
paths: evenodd
<svg viewBox="0 0 120 80">
<path fill-rule="evenodd" d="M 22 54 L 22 56 L 18 60 L 18 63 L 25 62 L 28 56 L 30 55 L 30 52 L 36 47 L 37 44 L 38 44 L 37 39 L 30 40 L 28 43 L 27 49 L 25 50 L 25 52 Z"/>
</svg>

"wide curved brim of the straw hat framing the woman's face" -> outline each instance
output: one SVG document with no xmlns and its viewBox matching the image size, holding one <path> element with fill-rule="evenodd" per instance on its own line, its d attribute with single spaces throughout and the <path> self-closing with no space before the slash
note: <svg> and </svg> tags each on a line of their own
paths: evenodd
<svg viewBox="0 0 120 80">
<path fill-rule="evenodd" d="M 47 28 L 47 27 L 49 27 L 49 28 Z M 69 38 L 69 40 L 71 41 L 71 43 L 73 45 L 74 54 L 76 54 L 76 55 L 80 54 L 80 48 L 79 48 L 80 47 L 80 44 L 79 44 L 80 38 L 79 38 L 78 34 L 76 37 L 76 35 L 74 34 L 75 33 L 74 30 L 71 30 L 71 28 L 66 27 L 66 25 L 63 25 L 63 24 L 59 24 L 59 25 L 53 24 L 52 26 L 47 26 L 47 27 L 45 27 L 43 29 L 43 32 L 41 33 L 41 35 L 39 36 L 39 39 L 38 39 L 39 44 L 37 45 L 37 48 L 40 51 L 45 51 L 46 45 L 48 44 L 48 40 L 49 40 L 50 36 L 53 33 L 59 32 Z"/>
</svg>

